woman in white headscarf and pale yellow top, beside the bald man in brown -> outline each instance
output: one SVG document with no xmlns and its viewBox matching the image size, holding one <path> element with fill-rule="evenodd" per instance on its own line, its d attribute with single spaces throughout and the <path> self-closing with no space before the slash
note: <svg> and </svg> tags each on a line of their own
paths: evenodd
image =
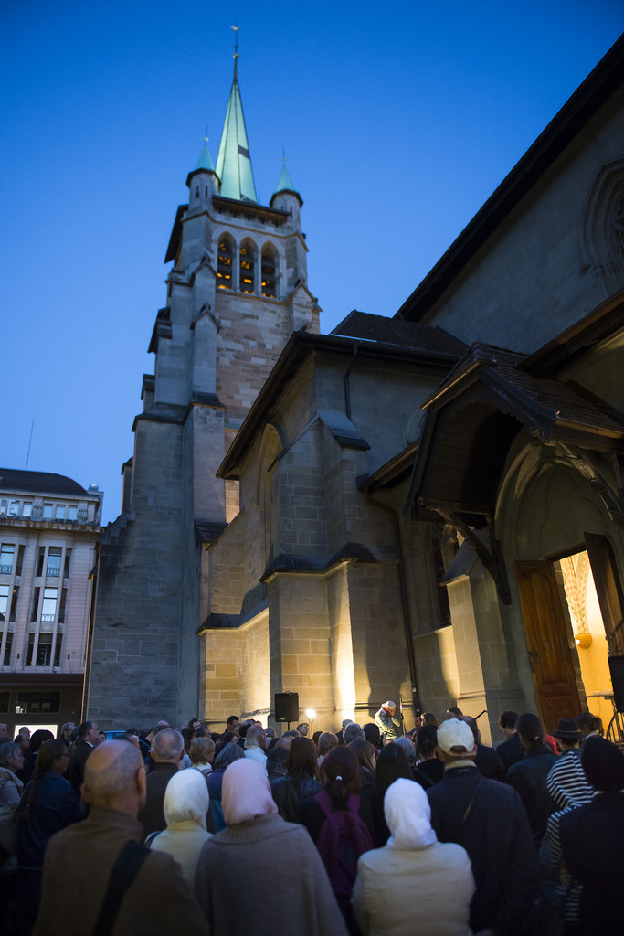
<svg viewBox="0 0 624 936">
<path fill-rule="evenodd" d="M 197 770 L 179 770 L 167 783 L 163 832 L 153 832 L 145 844 L 155 852 L 167 852 L 181 867 L 188 883 L 195 884 L 197 858 L 211 838 L 206 831 L 210 797 L 208 786 Z"/>
</svg>

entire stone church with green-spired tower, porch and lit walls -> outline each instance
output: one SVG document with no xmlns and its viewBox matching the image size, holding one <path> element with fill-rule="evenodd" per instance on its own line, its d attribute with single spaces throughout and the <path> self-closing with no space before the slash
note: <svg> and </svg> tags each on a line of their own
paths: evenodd
<svg viewBox="0 0 624 936">
<path fill-rule="evenodd" d="M 238 80 L 189 175 L 85 711 L 610 714 L 624 651 L 620 40 L 393 319 L 318 333 Z M 489 726 L 487 724 L 489 723 Z M 490 731 L 491 729 L 491 731 Z"/>
</svg>

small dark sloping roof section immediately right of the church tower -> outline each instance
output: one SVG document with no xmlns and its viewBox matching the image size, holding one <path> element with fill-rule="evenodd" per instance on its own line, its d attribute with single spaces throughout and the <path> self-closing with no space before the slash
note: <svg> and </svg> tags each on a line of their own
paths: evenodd
<svg viewBox="0 0 624 936">
<path fill-rule="evenodd" d="M 444 354 L 464 354 L 466 345 L 438 326 L 421 325 L 400 318 L 386 318 L 354 309 L 331 332 L 348 338 L 358 338 L 384 344 L 400 344 L 422 351 L 442 351 Z"/>
</svg>

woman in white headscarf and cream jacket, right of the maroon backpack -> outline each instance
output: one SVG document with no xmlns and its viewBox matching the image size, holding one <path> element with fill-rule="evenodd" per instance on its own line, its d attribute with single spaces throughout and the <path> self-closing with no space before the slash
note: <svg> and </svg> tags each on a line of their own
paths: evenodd
<svg viewBox="0 0 624 936">
<path fill-rule="evenodd" d="M 396 780 L 384 812 L 390 838 L 357 862 L 353 907 L 362 936 L 471 936 L 471 861 L 461 845 L 437 840 L 422 786 Z M 414 884 L 417 909 L 405 899 Z"/>
</svg>

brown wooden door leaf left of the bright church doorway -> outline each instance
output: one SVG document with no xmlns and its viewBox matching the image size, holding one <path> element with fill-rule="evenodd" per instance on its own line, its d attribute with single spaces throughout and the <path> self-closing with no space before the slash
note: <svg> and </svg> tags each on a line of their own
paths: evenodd
<svg viewBox="0 0 624 936">
<path fill-rule="evenodd" d="M 546 730 L 581 710 L 553 563 L 515 563 L 535 695 Z"/>
</svg>

